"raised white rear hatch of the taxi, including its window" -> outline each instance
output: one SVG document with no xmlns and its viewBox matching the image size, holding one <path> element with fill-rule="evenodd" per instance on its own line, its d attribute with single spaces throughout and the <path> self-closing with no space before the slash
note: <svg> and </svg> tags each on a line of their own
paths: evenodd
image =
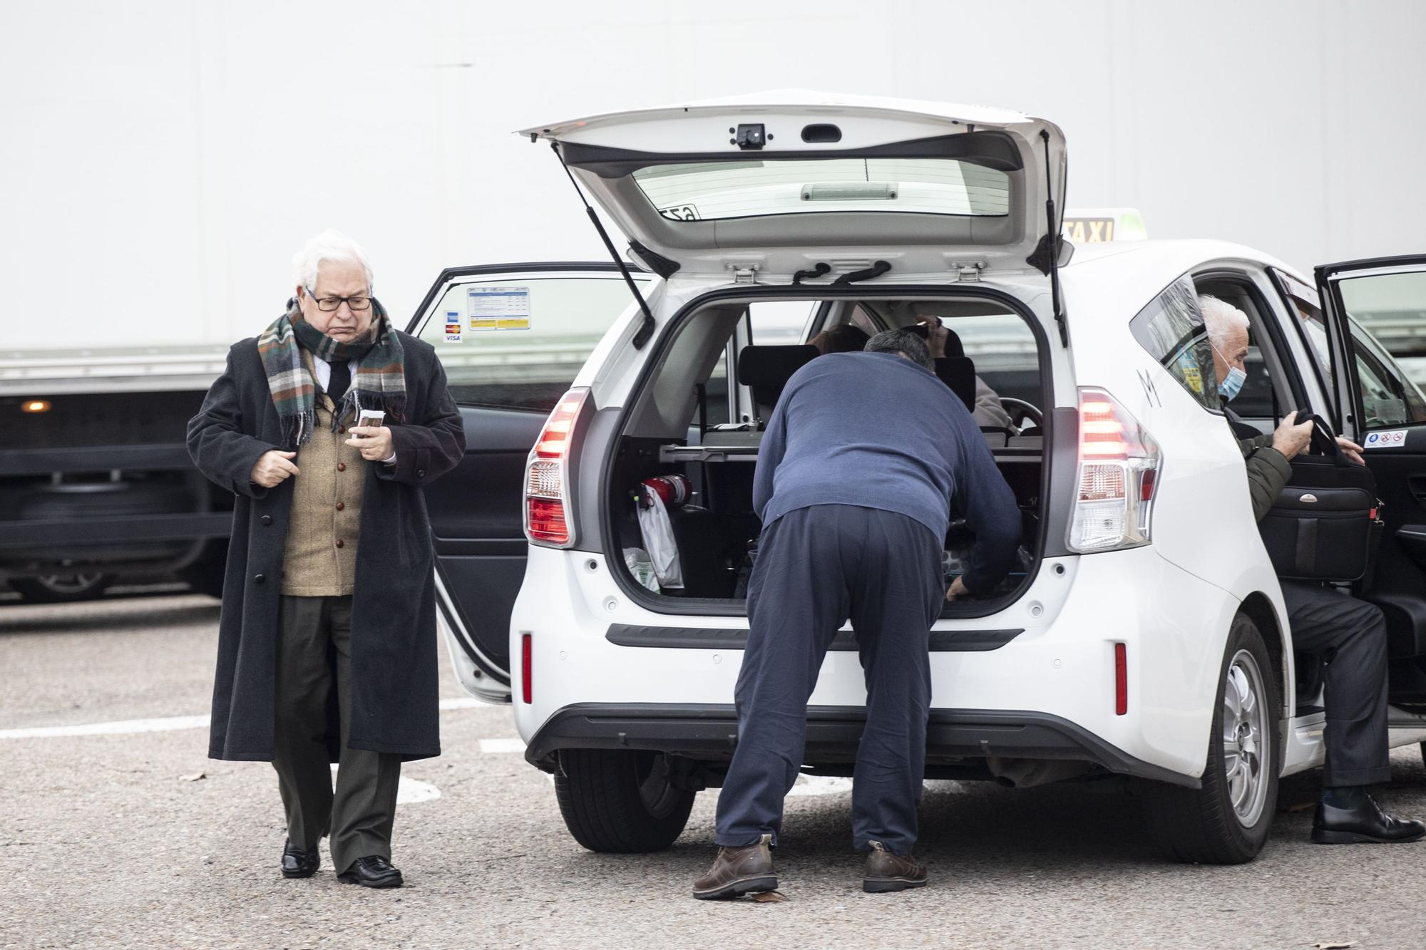
<svg viewBox="0 0 1426 950">
<path fill-rule="evenodd" d="M 1050 272 L 1061 252 L 1064 134 L 1014 111 L 794 90 L 522 134 L 555 144 L 665 277 Z"/>
</svg>

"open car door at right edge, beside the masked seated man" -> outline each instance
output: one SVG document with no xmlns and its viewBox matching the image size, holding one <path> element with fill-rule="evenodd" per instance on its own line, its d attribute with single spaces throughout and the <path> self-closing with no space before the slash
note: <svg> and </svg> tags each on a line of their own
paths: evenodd
<svg viewBox="0 0 1426 950">
<path fill-rule="evenodd" d="M 1382 499 L 1376 569 L 1360 593 L 1386 615 L 1392 705 L 1426 713 L 1426 395 L 1368 330 L 1415 322 L 1426 334 L 1426 255 L 1325 264 L 1316 278 L 1330 344 L 1326 354 L 1318 344 L 1320 368 Z"/>
</svg>

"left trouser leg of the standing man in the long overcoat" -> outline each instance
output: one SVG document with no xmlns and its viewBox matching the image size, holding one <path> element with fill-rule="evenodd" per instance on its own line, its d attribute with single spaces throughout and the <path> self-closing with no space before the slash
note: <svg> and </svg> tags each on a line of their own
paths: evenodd
<svg viewBox="0 0 1426 950">
<path fill-rule="evenodd" d="M 292 844 L 308 850 L 327 834 L 332 814 L 332 772 L 327 752 L 327 702 L 332 682 L 324 601 L 284 596 L 278 616 L 272 767 L 287 812 L 287 836 Z"/>
</svg>

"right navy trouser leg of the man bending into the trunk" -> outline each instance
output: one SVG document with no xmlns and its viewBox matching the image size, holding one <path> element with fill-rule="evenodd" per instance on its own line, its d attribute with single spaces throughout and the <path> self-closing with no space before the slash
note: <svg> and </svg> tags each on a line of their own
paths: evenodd
<svg viewBox="0 0 1426 950">
<path fill-rule="evenodd" d="M 945 601 L 945 575 L 930 528 L 906 515 L 861 511 L 867 535 L 851 585 L 851 625 L 867 680 L 867 726 L 851 786 L 851 842 L 910 854 L 925 776 L 928 640 Z"/>
</svg>

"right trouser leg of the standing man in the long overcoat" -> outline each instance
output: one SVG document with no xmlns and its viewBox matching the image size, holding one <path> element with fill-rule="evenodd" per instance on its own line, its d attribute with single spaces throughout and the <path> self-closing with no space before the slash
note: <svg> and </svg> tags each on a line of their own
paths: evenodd
<svg viewBox="0 0 1426 950">
<path fill-rule="evenodd" d="M 352 599 L 329 598 L 332 645 L 337 648 L 337 702 L 342 736 L 351 735 L 352 717 Z M 342 742 L 332 799 L 332 866 L 342 873 L 358 857 L 391 860 L 391 829 L 396 820 L 396 786 L 401 756 L 352 749 Z"/>
</svg>

